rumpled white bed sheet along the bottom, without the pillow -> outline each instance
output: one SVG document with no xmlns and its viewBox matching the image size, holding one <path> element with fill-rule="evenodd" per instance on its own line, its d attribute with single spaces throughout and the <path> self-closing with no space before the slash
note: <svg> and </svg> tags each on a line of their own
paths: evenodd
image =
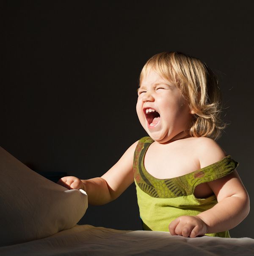
<svg viewBox="0 0 254 256">
<path fill-rule="evenodd" d="M 75 227 L 44 239 L 0 247 L 1 256 L 79 255 L 253 256 L 254 239 L 171 236 L 158 231 L 120 231 L 91 225 Z"/>
</svg>

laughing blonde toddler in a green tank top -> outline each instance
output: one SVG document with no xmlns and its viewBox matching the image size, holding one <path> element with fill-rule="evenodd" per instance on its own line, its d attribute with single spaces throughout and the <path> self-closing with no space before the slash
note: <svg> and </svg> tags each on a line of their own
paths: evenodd
<svg viewBox="0 0 254 256">
<path fill-rule="evenodd" d="M 141 71 L 136 110 L 149 137 L 102 177 L 69 176 L 58 184 L 82 188 L 88 203 L 102 205 L 134 181 L 144 230 L 230 237 L 248 215 L 249 198 L 238 163 L 215 142 L 225 125 L 213 72 L 183 53 L 156 54 Z"/>
</svg>

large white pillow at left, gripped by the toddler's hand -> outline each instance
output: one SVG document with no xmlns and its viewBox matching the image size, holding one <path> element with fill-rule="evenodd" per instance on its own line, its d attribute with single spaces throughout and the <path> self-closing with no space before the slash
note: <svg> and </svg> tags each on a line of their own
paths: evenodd
<svg viewBox="0 0 254 256">
<path fill-rule="evenodd" d="M 72 228 L 88 207 L 85 191 L 33 172 L 0 147 L 0 246 Z"/>
</svg>

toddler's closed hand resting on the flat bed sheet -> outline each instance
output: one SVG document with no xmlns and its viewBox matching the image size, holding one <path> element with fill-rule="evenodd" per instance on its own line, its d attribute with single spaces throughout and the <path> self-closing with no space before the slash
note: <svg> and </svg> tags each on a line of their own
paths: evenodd
<svg viewBox="0 0 254 256">
<path fill-rule="evenodd" d="M 197 216 L 178 217 L 169 224 L 168 229 L 173 236 L 196 237 L 207 233 L 207 225 Z"/>
</svg>

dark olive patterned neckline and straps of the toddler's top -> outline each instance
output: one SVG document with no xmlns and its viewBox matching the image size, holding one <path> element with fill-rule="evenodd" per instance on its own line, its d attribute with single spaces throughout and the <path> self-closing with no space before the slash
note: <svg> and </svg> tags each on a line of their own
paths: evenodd
<svg viewBox="0 0 254 256">
<path fill-rule="evenodd" d="M 157 179 L 144 167 L 144 155 L 152 142 L 150 137 L 141 138 L 135 150 L 133 163 L 135 182 L 151 197 L 175 198 L 191 195 L 199 184 L 224 177 L 238 166 L 238 163 L 227 155 L 222 160 L 195 172 L 170 179 Z"/>
</svg>

